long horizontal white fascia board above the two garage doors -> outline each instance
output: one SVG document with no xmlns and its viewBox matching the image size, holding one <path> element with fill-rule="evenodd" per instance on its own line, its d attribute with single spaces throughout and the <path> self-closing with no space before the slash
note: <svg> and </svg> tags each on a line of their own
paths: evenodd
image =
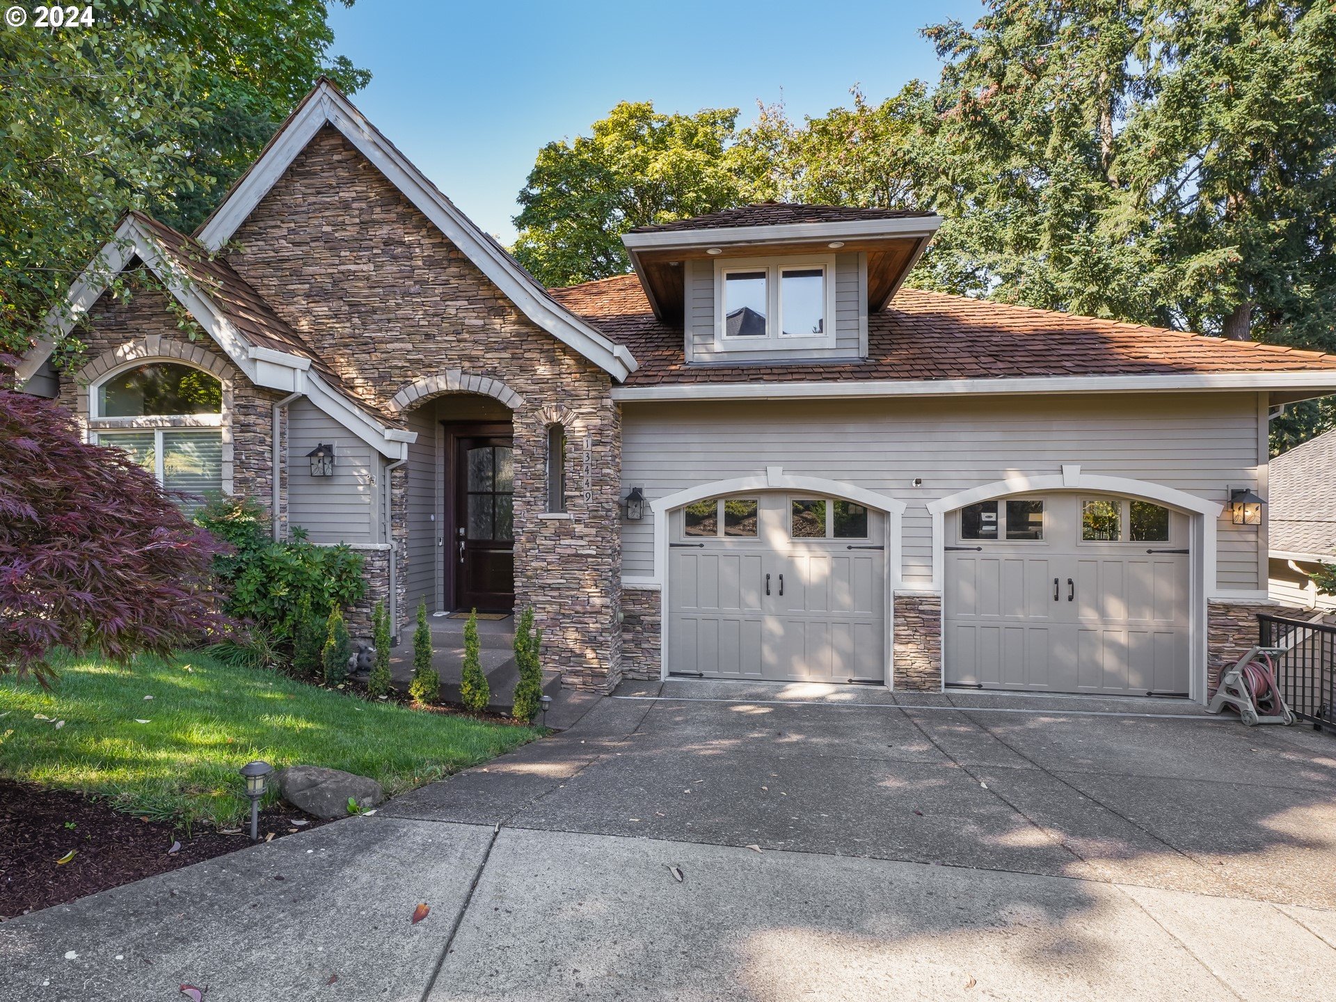
<svg viewBox="0 0 1336 1002">
<path fill-rule="evenodd" d="M 998 379 L 847 379 L 615 386 L 615 401 L 951 397 L 955 394 L 1164 393 L 1170 390 L 1305 389 L 1336 393 L 1336 370 L 1185 373 L 1182 375 L 1054 375 Z"/>
</svg>

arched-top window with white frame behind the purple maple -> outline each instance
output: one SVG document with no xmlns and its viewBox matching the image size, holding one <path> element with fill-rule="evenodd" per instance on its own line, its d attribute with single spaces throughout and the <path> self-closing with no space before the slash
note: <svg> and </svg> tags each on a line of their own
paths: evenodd
<svg viewBox="0 0 1336 1002">
<path fill-rule="evenodd" d="M 90 393 L 94 441 L 130 453 L 166 490 L 191 497 L 223 488 L 223 385 L 179 362 L 147 362 L 107 377 Z"/>
</svg>

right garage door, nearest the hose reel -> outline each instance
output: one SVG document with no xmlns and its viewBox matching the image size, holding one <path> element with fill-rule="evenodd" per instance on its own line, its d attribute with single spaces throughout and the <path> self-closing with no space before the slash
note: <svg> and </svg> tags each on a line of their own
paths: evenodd
<svg viewBox="0 0 1336 1002">
<path fill-rule="evenodd" d="M 1188 693 L 1188 517 L 1049 494 L 947 517 L 949 685 Z"/>
</svg>

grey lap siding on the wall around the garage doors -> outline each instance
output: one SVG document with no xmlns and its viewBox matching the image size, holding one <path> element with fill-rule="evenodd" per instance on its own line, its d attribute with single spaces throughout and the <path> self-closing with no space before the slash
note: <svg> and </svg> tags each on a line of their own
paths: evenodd
<svg viewBox="0 0 1336 1002">
<path fill-rule="evenodd" d="M 648 498 L 783 466 L 904 501 L 903 581 L 927 588 L 926 502 L 1009 476 L 1083 473 L 1148 480 L 1224 502 L 1226 486 L 1264 489 L 1255 394 L 1160 394 L 911 401 L 624 403 L 623 494 Z M 923 485 L 914 488 L 915 477 Z M 1257 591 L 1257 526 L 1218 525 L 1221 588 Z M 653 573 L 653 525 L 623 524 L 623 568 Z"/>
</svg>

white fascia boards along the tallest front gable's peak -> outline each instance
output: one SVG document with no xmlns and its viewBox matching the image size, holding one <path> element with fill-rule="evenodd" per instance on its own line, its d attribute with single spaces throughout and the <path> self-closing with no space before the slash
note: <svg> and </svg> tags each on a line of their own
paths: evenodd
<svg viewBox="0 0 1336 1002">
<path fill-rule="evenodd" d="M 545 289 L 520 271 L 458 208 L 445 199 L 361 112 L 327 84 L 287 124 L 227 202 L 200 231 L 199 242 L 218 250 L 240 227 L 297 155 L 327 122 L 370 160 L 405 198 L 432 220 L 520 311 L 557 341 L 588 358 L 621 382 L 636 370 L 636 359 L 553 301 Z"/>
</svg>

